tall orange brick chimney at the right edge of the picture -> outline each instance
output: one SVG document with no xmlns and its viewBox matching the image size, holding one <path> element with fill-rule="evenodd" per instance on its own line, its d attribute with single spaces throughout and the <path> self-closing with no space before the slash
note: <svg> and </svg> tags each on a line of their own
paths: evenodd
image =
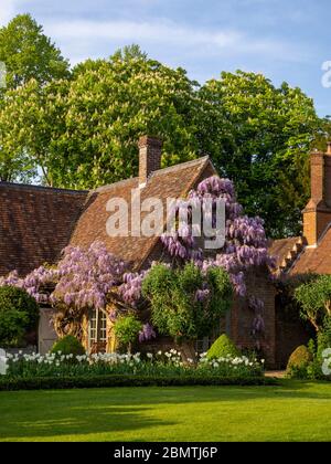
<svg viewBox="0 0 331 464">
<path fill-rule="evenodd" d="M 310 155 L 310 179 L 311 198 L 303 210 L 303 236 L 313 246 L 331 222 L 331 143 L 325 154 Z"/>
</svg>

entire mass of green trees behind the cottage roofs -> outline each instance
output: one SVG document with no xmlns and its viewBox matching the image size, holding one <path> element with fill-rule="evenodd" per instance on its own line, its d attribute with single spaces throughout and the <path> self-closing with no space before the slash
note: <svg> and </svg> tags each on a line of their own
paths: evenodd
<svg viewBox="0 0 331 464">
<path fill-rule="evenodd" d="M 0 98 L 0 179 L 88 189 L 138 172 L 140 135 L 163 139 L 162 166 L 209 155 L 273 238 L 298 234 L 309 152 L 330 120 L 287 83 L 223 72 L 200 86 L 138 45 L 68 71 L 28 14 L 0 30 L 9 88 Z"/>
</svg>

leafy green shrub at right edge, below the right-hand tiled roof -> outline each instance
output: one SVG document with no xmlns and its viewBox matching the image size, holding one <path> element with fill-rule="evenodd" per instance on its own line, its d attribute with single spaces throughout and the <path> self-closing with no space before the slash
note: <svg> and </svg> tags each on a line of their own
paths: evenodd
<svg viewBox="0 0 331 464">
<path fill-rule="evenodd" d="M 320 331 L 324 317 L 331 317 L 331 275 L 320 275 L 300 285 L 295 291 L 295 298 L 301 306 L 301 317 Z"/>
</svg>

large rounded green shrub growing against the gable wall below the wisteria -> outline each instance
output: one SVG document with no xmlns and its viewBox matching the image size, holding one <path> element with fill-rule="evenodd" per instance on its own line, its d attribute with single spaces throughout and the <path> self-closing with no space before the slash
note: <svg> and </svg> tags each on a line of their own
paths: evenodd
<svg viewBox="0 0 331 464">
<path fill-rule="evenodd" d="M 200 300 L 196 292 L 207 286 L 209 296 Z M 204 276 L 189 263 L 183 268 L 153 266 L 142 283 L 142 295 L 151 304 L 151 319 L 161 334 L 175 339 L 195 339 L 210 334 L 231 307 L 233 289 L 227 273 L 210 268 Z"/>
</svg>

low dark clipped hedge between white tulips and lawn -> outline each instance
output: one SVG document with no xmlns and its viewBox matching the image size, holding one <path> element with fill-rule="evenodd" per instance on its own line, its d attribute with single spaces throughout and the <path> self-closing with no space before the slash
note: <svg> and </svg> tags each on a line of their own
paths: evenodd
<svg viewBox="0 0 331 464">
<path fill-rule="evenodd" d="M 50 390 L 105 387 L 185 387 L 185 386 L 275 386 L 279 381 L 270 377 L 34 377 L 0 378 L 0 391 Z"/>
</svg>

